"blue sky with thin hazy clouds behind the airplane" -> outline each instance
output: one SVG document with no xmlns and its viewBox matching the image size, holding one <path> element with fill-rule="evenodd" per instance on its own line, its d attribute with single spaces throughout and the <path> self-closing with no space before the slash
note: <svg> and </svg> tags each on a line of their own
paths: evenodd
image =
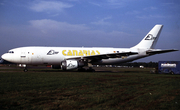
<svg viewBox="0 0 180 110">
<path fill-rule="evenodd" d="M 136 45 L 163 24 L 156 48 L 180 49 L 179 0 L 1 0 L 0 55 L 22 46 Z M 180 52 L 138 61 L 178 60 Z"/>
</svg>

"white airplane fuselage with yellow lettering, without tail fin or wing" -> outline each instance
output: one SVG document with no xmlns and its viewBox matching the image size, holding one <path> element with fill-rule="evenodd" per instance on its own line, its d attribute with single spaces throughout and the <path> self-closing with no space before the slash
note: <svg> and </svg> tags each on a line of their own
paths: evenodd
<svg viewBox="0 0 180 110">
<path fill-rule="evenodd" d="M 137 55 L 121 56 L 120 58 L 102 59 L 92 62 L 92 64 L 118 64 L 146 57 L 145 50 L 130 48 L 84 48 L 84 47 L 20 47 L 9 50 L 2 58 L 18 64 L 30 65 L 59 65 L 66 59 L 73 59 L 83 56 L 121 53 L 121 52 L 138 52 Z"/>
</svg>

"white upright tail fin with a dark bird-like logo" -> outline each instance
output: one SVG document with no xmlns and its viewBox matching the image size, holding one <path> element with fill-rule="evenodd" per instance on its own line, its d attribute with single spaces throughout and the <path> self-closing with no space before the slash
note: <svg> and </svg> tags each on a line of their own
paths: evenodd
<svg viewBox="0 0 180 110">
<path fill-rule="evenodd" d="M 151 31 L 139 42 L 139 44 L 135 45 L 132 48 L 143 48 L 143 49 L 154 49 L 163 25 L 155 25 Z"/>
</svg>

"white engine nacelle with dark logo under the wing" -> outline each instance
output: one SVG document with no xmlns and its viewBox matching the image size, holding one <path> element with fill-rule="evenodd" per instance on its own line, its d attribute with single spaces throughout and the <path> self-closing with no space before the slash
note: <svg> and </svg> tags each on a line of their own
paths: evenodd
<svg viewBox="0 0 180 110">
<path fill-rule="evenodd" d="M 78 60 L 65 60 L 61 63 L 62 70 L 72 70 L 84 66 L 84 63 Z"/>
</svg>

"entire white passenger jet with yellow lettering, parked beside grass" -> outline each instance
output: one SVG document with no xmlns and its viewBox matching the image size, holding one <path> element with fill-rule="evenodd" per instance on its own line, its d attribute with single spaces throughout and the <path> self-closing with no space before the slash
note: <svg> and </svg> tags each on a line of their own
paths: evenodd
<svg viewBox="0 0 180 110">
<path fill-rule="evenodd" d="M 63 70 L 82 69 L 88 65 L 113 65 L 130 62 L 155 54 L 178 51 L 154 49 L 163 25 L 152 30 L 131 48 L 84 48 L 84 47 L 20 47 L 9 50 L 2 59 L 25 65 L 52 65 Z"/>
</svg>

